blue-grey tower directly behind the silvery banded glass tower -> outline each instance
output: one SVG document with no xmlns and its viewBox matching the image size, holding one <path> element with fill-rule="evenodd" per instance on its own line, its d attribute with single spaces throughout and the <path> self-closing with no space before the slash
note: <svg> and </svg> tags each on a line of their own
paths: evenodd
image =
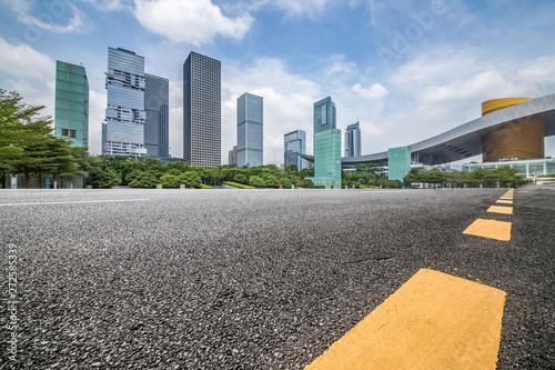
<svg viewBox="0 0 555 370">
<path fill-rule="evenodd" d="M 144 147 L 147 157 L 170 154 L 170 81 L 162 77 L 144 73 Z"/>
</svg>

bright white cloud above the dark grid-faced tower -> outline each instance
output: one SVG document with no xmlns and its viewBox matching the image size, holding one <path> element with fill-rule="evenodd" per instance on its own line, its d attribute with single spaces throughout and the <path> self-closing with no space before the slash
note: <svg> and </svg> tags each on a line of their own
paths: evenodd
<svg viewBox="0 0 555 370">
<path fill-rule="evenodd" d="M 133 13 L 149 31 L 174 42 L 194 46 L 211 42 L 216 34 L 242 39 L 254 19 L 245 13 L 225 17 L 211 0 L 134 0 Z"/>
</svg>

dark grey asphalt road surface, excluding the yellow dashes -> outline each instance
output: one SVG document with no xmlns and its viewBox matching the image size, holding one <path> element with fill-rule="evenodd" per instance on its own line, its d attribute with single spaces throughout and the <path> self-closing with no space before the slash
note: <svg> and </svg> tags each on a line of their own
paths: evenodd
<svg viewBox="0 0 555 370">
<path fill-rule="evenodd" d="M 302 369 L 430 268 L 507 293 L 498 369 L 554 369 L 555 190 L 463 234 L 504 192 L 0 191 L 0 368 Z"/>
</svg>

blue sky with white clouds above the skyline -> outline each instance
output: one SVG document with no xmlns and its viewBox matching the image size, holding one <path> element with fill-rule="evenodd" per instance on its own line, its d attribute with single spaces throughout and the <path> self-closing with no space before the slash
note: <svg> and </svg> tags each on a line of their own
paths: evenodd
<svg viewBox="0 0 555 370">
<path fill-rule="evenodd" d="M 264 163 L 331 96 L 362 152 L 406 146 L 482 114 L 481 103 L 555 93 L 553 0 L 0 0 L 0 88 L 54 111 L 56 60 L 85 68 L 90 152 L 101 150 L 108 48 L 170 80 L 170 153 L 182 157 L 183 62 L 222 62 L 222 164 L 236 99 L 264 98 Z M 555 139 L 546 139 L 555 157 Z"/>
</svg>

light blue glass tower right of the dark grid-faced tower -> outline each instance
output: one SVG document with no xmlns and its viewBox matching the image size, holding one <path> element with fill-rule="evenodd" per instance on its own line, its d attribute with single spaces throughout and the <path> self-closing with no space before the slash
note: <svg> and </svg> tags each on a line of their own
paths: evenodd
<svg viewBox="0 0 555 370">
<path fill-rule="evenodd" d="M 238 98 L 238 167 L 263 164 L 263 98 L 245 92 Z"/>
</svg>

